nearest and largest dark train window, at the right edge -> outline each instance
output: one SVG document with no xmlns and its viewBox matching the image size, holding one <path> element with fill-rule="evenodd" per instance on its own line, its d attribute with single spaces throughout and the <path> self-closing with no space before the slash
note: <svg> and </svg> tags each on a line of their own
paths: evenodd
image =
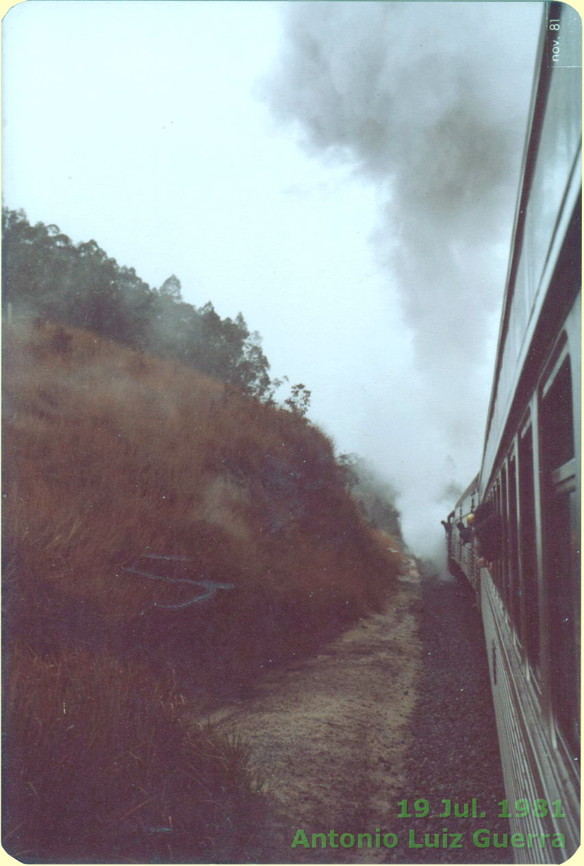
<svg viewBox="0 0 584 866">
<path fill-rule="evenodd" d="M 550 688 L 557 727 L 579 743 L 580 520 L 574 459 L 572 376 L 568 356 L 542 399 L 543 553 Z"/>
</svg>

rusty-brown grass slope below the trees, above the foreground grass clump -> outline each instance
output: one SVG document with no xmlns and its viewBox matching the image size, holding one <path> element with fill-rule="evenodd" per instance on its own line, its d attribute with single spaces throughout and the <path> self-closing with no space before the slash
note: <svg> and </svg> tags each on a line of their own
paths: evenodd
<svg viewBox="0 0 584 866">
<path fill-rule="evenodd" d="M 51 611 L 57 629 L 86 634 L 201 618 L 203 605 L 161 609 L 192 586 L 127 569 L 233 584 L 204 607 L 206 641 L 222 622 L 222 643 L 244 652 L 271 607 L 292 603 L 308 632 L 389 591 L 318 430 L 89 333 L 71 331 L 63 357 L 52 333 L 21 326 L 5 340 L 5 541 L 30 640 L 53 642 Z"/>
</svg>

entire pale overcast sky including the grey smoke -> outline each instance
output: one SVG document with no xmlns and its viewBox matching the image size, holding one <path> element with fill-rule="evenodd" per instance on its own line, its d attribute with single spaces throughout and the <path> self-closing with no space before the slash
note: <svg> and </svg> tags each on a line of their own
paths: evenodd
<svg viewBox="0 0 584 866">
<path fill-rule="evenodd" d="M 428 555 L 480 462 L 541 16 L 27 0 L 3 21 L 4 203 L 241 311 Z"/>
</svg>

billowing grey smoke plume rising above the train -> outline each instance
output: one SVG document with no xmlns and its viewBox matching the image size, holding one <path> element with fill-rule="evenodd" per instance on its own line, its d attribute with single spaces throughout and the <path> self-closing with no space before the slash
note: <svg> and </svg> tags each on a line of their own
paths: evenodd
<svg viewBox="0 0 584 866">
<path fill-rule="evenodd" d="M 413 473 L 401 507 L 408 523 L 423 497 L 437 520 L 452 502 L 448 461 L 478 468 L 541 4 L 283 7 L 265 98 L 311 152 L 379 191 L 372 240 L 413 330 L 415 404 L 394 442 Z"/>
</svg>

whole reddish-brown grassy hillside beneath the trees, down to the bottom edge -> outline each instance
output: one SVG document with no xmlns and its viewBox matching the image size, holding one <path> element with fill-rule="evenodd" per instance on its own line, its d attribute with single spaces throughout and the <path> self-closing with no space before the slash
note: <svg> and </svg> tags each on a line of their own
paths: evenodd
<svg viewBox="0 0 584 866">
<path fill-rule="evenodd" d="M 301 417 L 73 329 L 4 356 L 5 844 L 241 862 L 258 785 L 196 695 L 378 607 L 399 556 Z"/>
</svg>

